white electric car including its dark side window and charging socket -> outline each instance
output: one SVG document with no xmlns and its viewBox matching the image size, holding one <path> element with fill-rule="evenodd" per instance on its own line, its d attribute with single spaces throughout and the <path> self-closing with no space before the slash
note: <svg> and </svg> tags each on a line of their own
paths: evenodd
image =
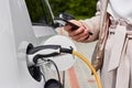
<svg viewBox="0 0 132 88">
<path fill-rule="evenodd" d="M 28 54 L 56 35 L 55 28 L 47 0 L 0 0 L 0 88 L 44 88 L 44 76 Z"/>
</svg>

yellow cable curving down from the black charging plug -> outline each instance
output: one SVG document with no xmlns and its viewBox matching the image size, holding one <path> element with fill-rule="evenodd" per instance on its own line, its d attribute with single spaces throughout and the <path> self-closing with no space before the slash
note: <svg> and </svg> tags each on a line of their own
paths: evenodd
<svg viewBox="0 0 132 88">
<path fill-rule="evenodd" d="M 98 74 L 96 73 L 96 69 L 90 64 L 90 62 L 85 56 L 79 54 L 78 52 L 73 51 L 73 54 L 76 55 L 77 57 L 79 57 L 80 59 L 82 59 L 88 65 L 88 67 L 91 69 L 91 72 L 94 73 L 94 75 L 96 77 L 96 80 L 97 80 L 97 84 L 98 84 L 98 88 L 101 88 L 100 78 L 99 78 Z"/>
</svg>

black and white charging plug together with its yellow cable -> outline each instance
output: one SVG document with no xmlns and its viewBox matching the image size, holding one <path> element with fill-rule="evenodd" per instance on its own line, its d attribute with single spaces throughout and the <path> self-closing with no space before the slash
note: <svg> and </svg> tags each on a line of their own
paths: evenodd
<svg viewBox="0 0 132 88">
<path fill-rule="evenodd" d="M 48 53 L 47 53 L 47 51 L 48 51 Z M 32 59 L 32 63 L 36 64 L 37 59 L 40 59 L 40 58 L 57 56 L 61 53 L 73 54 L 73 55 L 79 57 L 81 61 L 84 61 L 87 64 L 87 66 L 90 68 L 90 70 L 94 73 L 95 78 L 97 80 L 98 88 L 101 88 L 100 78 L 99 78 L 96 69 L 90 64 L 90 62 L 85 56 L 82 56 L 78 52 L 74 51 L 73 48 L 64 48 L 64 47 L 61 47 L 61 45 L 37 46 L 37 47 L 32 47 L 31 50 L 29 50 L 28 57 L 29 57 L 29 59 Z"/>
</svg>

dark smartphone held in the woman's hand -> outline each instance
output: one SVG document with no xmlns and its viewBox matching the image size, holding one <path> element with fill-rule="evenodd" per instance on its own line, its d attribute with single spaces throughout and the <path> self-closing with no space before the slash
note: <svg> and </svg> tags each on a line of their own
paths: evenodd
<svg viewBox="0 0 132 88">
<path fill-rule="evenodd" d="M 76 25 L 76 24 L 74 24 L 74 23 L 72 23 L 72 22 L 69 22 L 69 21 L 67 21 L 65 19 L 59 19 L 58 18 L 58 19 L 54 19 L 54 21 L 56 21 L 57 23 L 62 24 L 63 26 L 70 25 L 72 26 L 72 31 L 79 29 L 78 25 Z M 89 32 L 89 35 L 92 35 L 92 33 Z"/>
</svg>

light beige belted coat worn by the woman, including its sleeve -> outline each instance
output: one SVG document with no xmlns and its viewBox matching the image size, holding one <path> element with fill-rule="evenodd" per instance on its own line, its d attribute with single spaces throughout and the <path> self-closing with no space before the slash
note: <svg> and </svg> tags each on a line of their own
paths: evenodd
<svg viewBox="0 0 132 88">
<path fill-rule="evenodd" d="M 86 42 L 92 42 L 99 37 L 100 21 L 105 16 L 105 1 L 98 2 L 96 16 L 82 21 L 94 32 Z M 119 25 L 114 23 L 110 24 L 106 35 L 108 37 L 101 68 L 102 88 L 132 88 L 132 23 L 124 20 Z"/>
</svg>

